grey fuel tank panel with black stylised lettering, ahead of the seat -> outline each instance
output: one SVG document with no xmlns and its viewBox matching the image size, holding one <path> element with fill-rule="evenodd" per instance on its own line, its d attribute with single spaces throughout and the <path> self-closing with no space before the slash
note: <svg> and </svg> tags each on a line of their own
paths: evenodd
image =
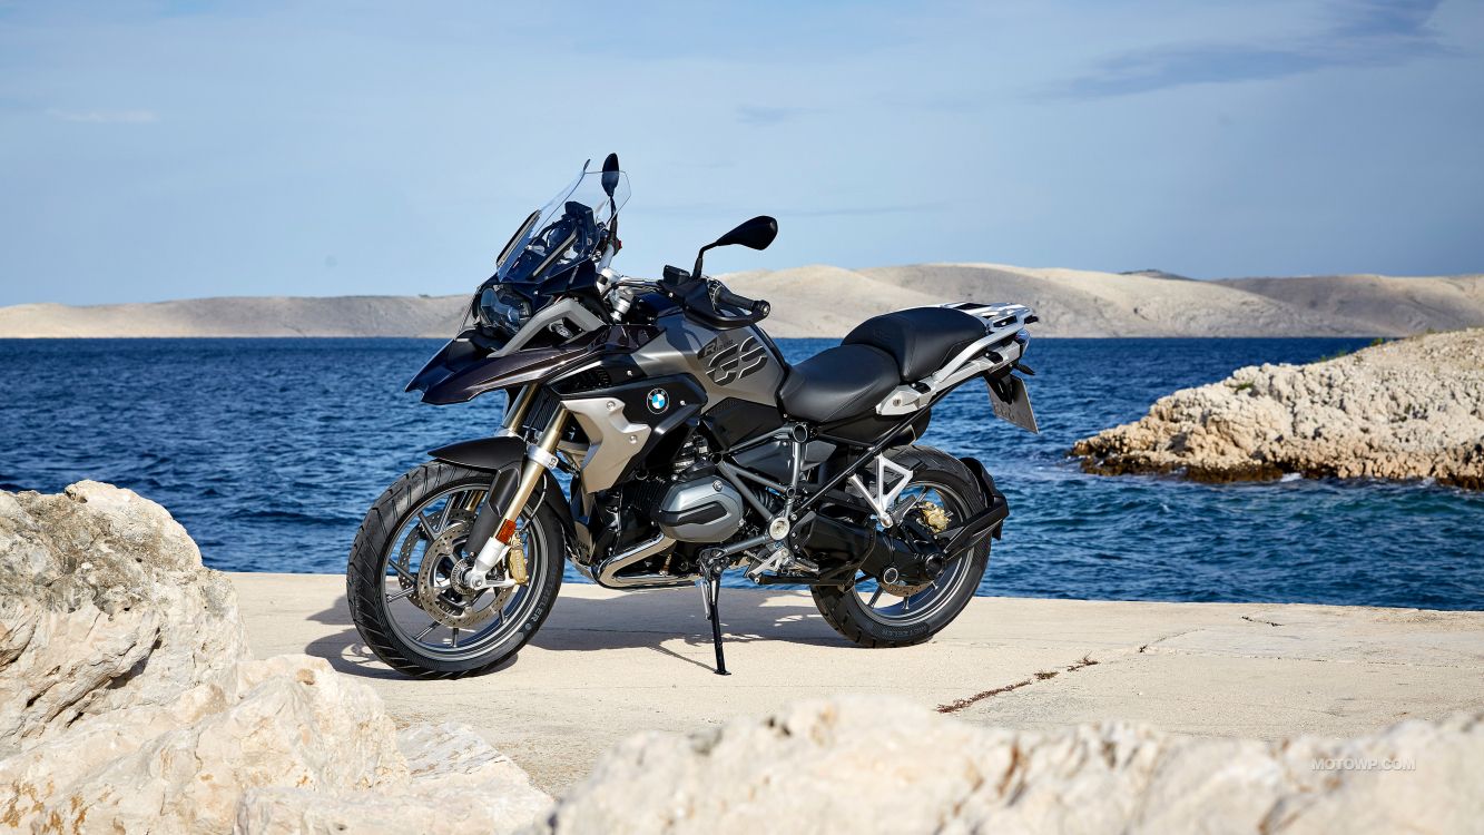
<svg viewBox="0 0 1484 835">
<path fill-rule="evenodd" d="M 755 326 L 712 331 L 681 313 L 662 316 L 656 323 L 660 335 L 634 352 L 646 374 L 695 377 L 706 392 L 702 411 L 733 397 L 778 406 L 784 360 Z"/>
</svg>

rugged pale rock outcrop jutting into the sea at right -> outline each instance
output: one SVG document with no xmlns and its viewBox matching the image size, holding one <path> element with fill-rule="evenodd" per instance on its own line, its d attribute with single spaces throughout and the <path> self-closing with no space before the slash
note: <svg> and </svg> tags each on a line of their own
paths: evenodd
<svg viewBox="0 0 1484 835">
<path fill-rule="evenodd" d="M 1437 479 L 1484 489 L 1484 329 L 1312 365 L 1263 365 L 1160 397 L 1071 448 L 1091 473 L 1198 481 Z"/>
</svg>

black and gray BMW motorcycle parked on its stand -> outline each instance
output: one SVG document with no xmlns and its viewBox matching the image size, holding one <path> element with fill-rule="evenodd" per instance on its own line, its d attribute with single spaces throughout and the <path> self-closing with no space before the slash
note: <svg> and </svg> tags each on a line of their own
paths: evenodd
<svg viewBox="0 0 1484 835">
<path fill-rule="evenodd" d="M 585 171 L 506 243 L 464 329 L 408 384 L 429 403 L 505 392 L 493 438 L 430 452 L 381 494 L 350 550 L 350 614 L 414 676 L 496 669 L 556 604 L 564 561 L 610 589 L 696 583 L 726 675 L 721 575 L 807 586 L 865 647 L 920 644 L 974 595 L 1009 510 L 984 464 L 917 440 L 969 381 L 1036 430 L 1020 304 L 877 316 L 789 365 L 769 304 L 702 274 L 766 249 L 752 218 L 657 280 L 613 271 L 628 182 Z M 558 473 L 570 476 L 564 491 Z"/>
</svg>

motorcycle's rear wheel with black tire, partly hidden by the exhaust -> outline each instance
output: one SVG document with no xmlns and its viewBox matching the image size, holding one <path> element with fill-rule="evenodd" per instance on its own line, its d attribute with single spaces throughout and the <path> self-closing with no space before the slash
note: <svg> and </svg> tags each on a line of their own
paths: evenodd
<svg viewBox="0 0 1484 835">
<path fill-rule="evenodd" d="M 953 522 L 962 522 L 969 516 L 984 510 L 984 497 L 979 492 L 978 481 L 962 461 L 933 449 L 932 446 L 905 446 L 890 452 L 892 461 L 913 470 L 911 494 L 917 485 L 933 485 L 948 507 Z M 835 632 L 862 647 L 911 647 L 922 644 L 953 623 L 963 607 L 974 598 L 984 577 L 984 570 L 990 564 L 990 537 L 975 544 L 972 549 L 951 561 L 938 578 L 938 589 L 922 589 L 914 596 L 920 601 L 917 615 L 898 602 L 890 610 L 896 614 L 886 614 L 886 607 L 871 605 L 876 598 L 887 596 L 876 593 L 879 581 L 874 577 L 858 575 L 850 586 L 815 586 L 810 589 L 815 607 L 824 615 L 825 623 Z M 867 596 L 862 596 L 867 595 Z M 868 602 L 868 598 L 871 602 Z"/>
</svg>

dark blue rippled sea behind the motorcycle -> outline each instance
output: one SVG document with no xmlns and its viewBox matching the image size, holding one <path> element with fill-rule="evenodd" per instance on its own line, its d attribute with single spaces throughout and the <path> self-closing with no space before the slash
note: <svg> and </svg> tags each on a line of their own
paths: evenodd
<svg viewBox="0 0 1484 835">
<path fill-rule="evenodd" d="M 169 509 L 211 567 L 340 572 L 389 482 L 423 451 L 499 426 L 503 397 L 427 406 L 402 393 L 439 344 L 0 340 L 0 486 L 113 482 Z M 794 360 L 830 344 L 782 341 Z M 1040 435 L 994 420 L 978 384 L 936 408 L 928 435 L 984 460 L 1011 503 L 979 592 L 1484 608 L 1484 494 L 1106 478 L 1066 458 L 1076 439 L 1137 420 L 1175 389 L 1364 344 L 1033 340 Z"/>
</svg>

